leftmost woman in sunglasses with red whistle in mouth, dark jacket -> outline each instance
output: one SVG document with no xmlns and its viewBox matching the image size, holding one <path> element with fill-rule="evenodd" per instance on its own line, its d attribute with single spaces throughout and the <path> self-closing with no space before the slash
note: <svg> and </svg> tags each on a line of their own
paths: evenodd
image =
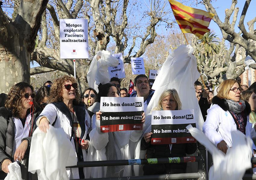
<svg viewBox="0 0 256 180">
<path fill-rule="evenodd" d="M 29 147 L 35 130 L 36 103 L 34 89 L 27 82 L 19 82 L 11 87 L 0 108 L 0 179 L 9 172 L 8 165 L 20 161 L 22 179 L 37 179 L 28 173 Z"/>
</svg>

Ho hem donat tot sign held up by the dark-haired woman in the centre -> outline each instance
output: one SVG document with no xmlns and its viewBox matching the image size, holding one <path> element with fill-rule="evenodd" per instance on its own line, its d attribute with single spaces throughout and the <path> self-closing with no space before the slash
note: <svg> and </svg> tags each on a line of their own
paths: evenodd
<svg viewBox="0 0 256 180">
<path fill-rule="evenodd" d="M 101 97 L 101 132 L 142 130 L 143 97 Z"/>
</svg>

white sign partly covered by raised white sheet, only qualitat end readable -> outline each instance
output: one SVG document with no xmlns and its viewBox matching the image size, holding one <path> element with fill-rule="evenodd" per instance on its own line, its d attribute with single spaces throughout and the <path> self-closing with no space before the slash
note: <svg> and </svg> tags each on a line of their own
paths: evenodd
<svg viewBox="0 0 256 180">
<path fill-rule="evenodd" d="M 118 65 L 115 67 L 108 67 L 108 73 L 110 78 L 125 78 L 124 65 L 123 65 L 123 53 L 113 54 L 113 57 L 116 57 L 119 61 Z"/>
</svg>

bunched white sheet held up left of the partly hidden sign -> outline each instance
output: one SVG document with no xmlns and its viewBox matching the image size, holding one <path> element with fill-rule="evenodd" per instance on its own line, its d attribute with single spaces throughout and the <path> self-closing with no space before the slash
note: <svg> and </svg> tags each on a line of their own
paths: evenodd
<svg viewBox="0 0 256 180">
<path fill-rule="evenodd" d="M 99 58 L 98 60 L 97 57 Z M 98 85 L 100 83 L 106 84 L 110 81 L 108 67 L 117 66 L 118 62 L 118 59 L 113 57 L 108 51 L 96 52 L 86 76 L 89 87 L 94 88 L 98 92 Z"/>
</svg>

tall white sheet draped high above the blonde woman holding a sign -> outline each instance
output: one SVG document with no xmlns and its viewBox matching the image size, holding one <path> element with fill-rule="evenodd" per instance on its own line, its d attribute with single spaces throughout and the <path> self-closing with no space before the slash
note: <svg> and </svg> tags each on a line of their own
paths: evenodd
<svg viewBox="0 0 256 180">
<path fill-rule="evenodd" d="M 178 91 L 182 109 L 194 109 L 196 127 L 202 130 L 204 120 L 194 88 L 194 82 L 199 78 L 200 73 L 198 73 L 193 52 L 194 49 L 190 45 L 181 45 L 167 57 L 152 86 L 155 93 L 148 104 L 146 113 L 150 113 L 152 108 L 157 106 L 164 90 L 174 88 Z"/>
</svg>

